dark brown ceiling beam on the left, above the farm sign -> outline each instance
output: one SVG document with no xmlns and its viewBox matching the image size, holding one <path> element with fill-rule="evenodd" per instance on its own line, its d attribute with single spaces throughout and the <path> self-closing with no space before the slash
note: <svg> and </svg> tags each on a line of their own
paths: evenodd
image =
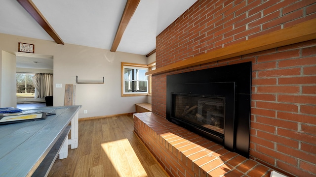
<svg viewBox="0 0 316 177">
<path fill-rule="evenodd" d="M 35 6 L 32 0 L 17 0 L 22 7 L 40 24 L 40 26 L 53 38 L 57 44 L 64 44 L 56 31 L 49 25 L 40 10 Z"/>
</svg>

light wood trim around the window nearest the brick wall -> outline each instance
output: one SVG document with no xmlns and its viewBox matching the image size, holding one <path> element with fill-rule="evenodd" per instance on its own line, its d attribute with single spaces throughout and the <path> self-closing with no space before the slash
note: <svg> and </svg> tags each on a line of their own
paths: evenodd
<svg viewBox="0 0 316 177">
<path fill-rule="evenodd" d="M 136 64 L 136 63 L 128 63 L 128 62 L 121 62 L 121 96 L 147 96 L 149 92 L 149 86 L 148 86 L 148 92 L 146 93 L 124 93 L 124 66 L 132 66 L 132 67 L 141 67 L 141 68 L 147 68 L 147 64 Z M 147 79 L 147 83 L 149 85 L 149 78 Z"/>
</svg>

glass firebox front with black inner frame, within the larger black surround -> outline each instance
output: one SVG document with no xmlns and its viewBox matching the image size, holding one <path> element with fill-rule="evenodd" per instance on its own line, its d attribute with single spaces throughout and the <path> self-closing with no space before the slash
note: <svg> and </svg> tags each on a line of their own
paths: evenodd
<svg viewBox="0 0 316 177">
<path fill-rule="evenodd" d="M 235 83 L 184 84 L 177 90 L 170 93 L 168 120 L 233 149 Z"/>
</svg>

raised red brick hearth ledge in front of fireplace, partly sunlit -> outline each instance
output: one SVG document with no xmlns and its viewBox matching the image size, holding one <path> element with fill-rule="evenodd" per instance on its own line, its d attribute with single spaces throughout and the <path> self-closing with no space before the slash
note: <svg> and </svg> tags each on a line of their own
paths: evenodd
<svg viewBox="0 0 316 177">
<path fill-rule="evenodd" d="M 174 177 L 269 177 L 272 169 L 152 112 L 133 115 L 134 132 Z"/>
</svg>

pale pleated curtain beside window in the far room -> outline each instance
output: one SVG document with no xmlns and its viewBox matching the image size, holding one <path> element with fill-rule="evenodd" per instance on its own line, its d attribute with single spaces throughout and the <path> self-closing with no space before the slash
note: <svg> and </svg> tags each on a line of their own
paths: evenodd
<svg viewBox="0 0 316 177">
<path fill-rule="evenodd" d="M 32 79 L 35 86 L 34 98 L 53 95 L 53 74 L 36 73 Z"/>
</svg>

